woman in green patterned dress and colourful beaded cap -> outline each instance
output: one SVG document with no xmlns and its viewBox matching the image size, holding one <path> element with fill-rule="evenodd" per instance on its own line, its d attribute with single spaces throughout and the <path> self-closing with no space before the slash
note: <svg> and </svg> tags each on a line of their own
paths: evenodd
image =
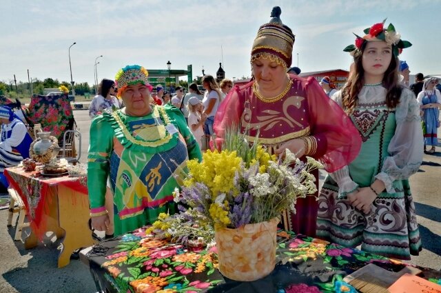
<svg viewBox="0 0 441 293">
<path fill-rule="evenodd" d="M 92 228 L 103 231 L 114 215 L 114 234 L 174 213 L 175 175 L 188 159 L 201 160 L 201 150 L 182 112 L 172 105 L 152 105 L 148 72 L 128 65 L 116 74 L 125 108 L 104 112 L 90 127 L 88 190 Z M 114 210 L 105 209 L 107 176 Z"/>
</svg>

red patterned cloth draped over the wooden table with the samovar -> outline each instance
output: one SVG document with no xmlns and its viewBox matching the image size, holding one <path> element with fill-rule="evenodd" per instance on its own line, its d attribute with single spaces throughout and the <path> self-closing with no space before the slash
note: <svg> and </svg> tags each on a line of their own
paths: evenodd
<svg viewBox="0 0 441 293">
<path fill-rule="evenodd" d="M 51 187 L 63 185 L 88 197 L 87 176 L 48 177 L 41 175 L 38 170 L 25 172 L 22 167 L 6 168 L 4 174 L 23 200 L 32 231 L 39 239 L 45 232 L 43 214 L 48 213 L 48 192 Z"/>
</svg>

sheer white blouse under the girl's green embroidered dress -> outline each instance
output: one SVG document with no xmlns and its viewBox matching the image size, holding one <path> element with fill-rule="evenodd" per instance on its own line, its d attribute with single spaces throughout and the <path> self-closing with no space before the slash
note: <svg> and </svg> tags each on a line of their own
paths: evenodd
<svg viewBox="0 0 441 293">
<path fill-rule="evenodd" d="M 386 89 L 382 85 L 364 86 L 358 94 L 359 103 L 380 103 L 386 101 Z M 342 92 L 336 92 L 332 99 L 342 106 Z M 389 156 L 384 159 L 380 173 L 375 178 L 382 181 L 388 193 L 396 192 L 393 181 L 408 179 L 416 173 L 422 163 L 423 137 L 420 107 L 411 90 L 402 89 L 400 103 L 396 107 L 396 130 L 387 148 Z M 352 181 L 347 166 L 329 174 L 338 184 L 340 196 L 358 188 Z"/>
</svg>

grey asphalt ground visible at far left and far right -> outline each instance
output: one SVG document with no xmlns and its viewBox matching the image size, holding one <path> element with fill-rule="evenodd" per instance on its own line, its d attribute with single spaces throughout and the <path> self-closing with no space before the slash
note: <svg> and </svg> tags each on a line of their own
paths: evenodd
<svg viewBox="0 0 441 293">
<path fill-rule="evenodd" d="M 88 111 L 74 111 L 74 117 L 81 132 L 80 161 L 85 163 L 90 129 Z M 441 148 L 437 151 L 424 154 L 420 171 L 410 179 L 423 246 L 420 256 L 413 256 L 410 263 L 441 270 Z M 0 293 L 96 292 L 89 268 L 81 261 L 73 259 L 66 267 L 57 268 L 60 242 L 52 234 L 46 234 L 37 247 L 25 250 L 21 241 L 13 240 L 15 229 L 6 227 L 7 218 L 8 210 L 0 210 Z"/>
</svg>

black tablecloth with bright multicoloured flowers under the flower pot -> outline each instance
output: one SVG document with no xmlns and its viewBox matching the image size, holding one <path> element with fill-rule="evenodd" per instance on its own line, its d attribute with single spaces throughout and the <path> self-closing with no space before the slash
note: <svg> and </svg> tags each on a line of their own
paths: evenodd
<svg viewBox="0 0 441 293">
<path fill-rule="evenodd" d="M 104 292 L 357 292 L 342 279 L 367 265 L 393 272 L 404 263 L 280 230 L 278 264 L 254 282 L 227 279 L 216 269 L 216 247 L 187 250 L 182 245 L 155 240 L 140 228 L 95 245 L 88 252 L 97 290 Z M 425 269 L 420 276 L 441 283 L 441 272 Z"/>
</svg>

